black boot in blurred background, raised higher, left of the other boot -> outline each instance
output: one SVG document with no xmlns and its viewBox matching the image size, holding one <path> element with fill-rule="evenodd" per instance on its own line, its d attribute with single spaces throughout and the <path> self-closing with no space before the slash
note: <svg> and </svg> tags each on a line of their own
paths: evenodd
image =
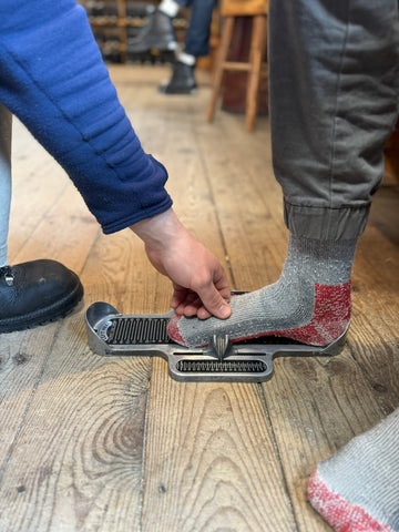
<svg viewBox="0 0 399 532">
<path fill-rule="evenodd" d="M 149 50 L 171 51 L 177 48 L 171 17 L 155 9 L 149 17 L 149 22 L 142 30 L 142 34 L 130 39 L 127 51 L 130 53 L 143 53 Z"/>
</svg>

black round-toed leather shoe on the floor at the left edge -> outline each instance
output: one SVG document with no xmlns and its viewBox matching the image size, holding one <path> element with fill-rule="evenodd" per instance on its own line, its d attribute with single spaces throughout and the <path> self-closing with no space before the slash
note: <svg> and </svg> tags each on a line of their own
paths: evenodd
<svg viewBox="0 0 399 532">
<path fill-rule="evenodd" d="M 0 268 L 0 334 L 24 330 L 69 314 L 83 297 L 73 272 L 39 259 Z"/>
</svg>

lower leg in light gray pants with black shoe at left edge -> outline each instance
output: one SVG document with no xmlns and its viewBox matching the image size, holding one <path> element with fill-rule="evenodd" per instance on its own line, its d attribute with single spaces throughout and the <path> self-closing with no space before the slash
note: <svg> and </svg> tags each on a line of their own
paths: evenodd
<svg viewBox="0 0 399 532">
<path fill-rule="evenodd" d="M 78 276 L 55 260 L 8 264 L 11 123 L 11 113 L 0 104 L 0 334 L 53 321 L 65 316 L 83 296 Z"/>
</svg>

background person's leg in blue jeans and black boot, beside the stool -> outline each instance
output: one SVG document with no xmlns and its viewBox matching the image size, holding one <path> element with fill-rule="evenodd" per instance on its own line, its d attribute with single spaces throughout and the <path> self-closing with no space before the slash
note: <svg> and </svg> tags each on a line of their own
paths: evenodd
<svg viewBox="0 0 399 532">
<path fill-rule="evenodd" d="M 165 94 L 192 94 L 196 90 L 194 68 L 197 58 L 209 53 L 209 31 L 212 13 L 216 0 L 194 0 L 186 31 L 184 48 L 176 53 L 172 76 L 161 84 Z"/>
</svg>

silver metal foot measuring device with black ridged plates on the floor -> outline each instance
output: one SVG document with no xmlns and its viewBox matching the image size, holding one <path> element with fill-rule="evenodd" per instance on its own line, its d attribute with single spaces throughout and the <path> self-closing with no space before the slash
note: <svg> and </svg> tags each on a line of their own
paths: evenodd
<svg viewBox="0 0 399 532">
<path fill-rule="evenodd" d="M 94 303 L 85 314 L 89 346 L 102 356 L 161 356 L 171 377 L 180 381 L 262 382 L 272 377 L 275 357 L 334 356 L 347 334 L 325 347 L 275 336 L 232 344 L 228 336 L 215 335 L 212 345 L 192 349 L 167 336 L 171 316 L 123 315 L 108 303 Z"/>
</svg>

